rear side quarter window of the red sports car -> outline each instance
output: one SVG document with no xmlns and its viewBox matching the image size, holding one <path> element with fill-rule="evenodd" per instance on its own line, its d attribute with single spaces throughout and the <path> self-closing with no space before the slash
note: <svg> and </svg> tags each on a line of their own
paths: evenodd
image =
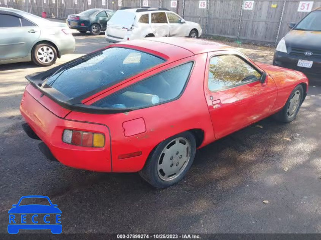
<svg viewBox="0 0 321 240">
<path fill-rule="evenodd" d="M 192 66 L 190 62 L 159 73 L 93 105 L 104 108 L 143 108 L 171 101 L 183 92 Z"/>
</svg>

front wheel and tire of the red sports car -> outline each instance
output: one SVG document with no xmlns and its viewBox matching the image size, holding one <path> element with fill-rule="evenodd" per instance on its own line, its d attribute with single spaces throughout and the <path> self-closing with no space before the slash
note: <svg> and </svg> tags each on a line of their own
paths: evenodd
<svg viewBox="0 0 321 240">
<path fill-rule="evenodd" d="M 273 115 L 273 118 L 279 122 L 289 123 L 292 122 L 300 109 L 303 101 L 303 87 L 297 85 L 291 92 L 284 107 Z"/>
</svg>

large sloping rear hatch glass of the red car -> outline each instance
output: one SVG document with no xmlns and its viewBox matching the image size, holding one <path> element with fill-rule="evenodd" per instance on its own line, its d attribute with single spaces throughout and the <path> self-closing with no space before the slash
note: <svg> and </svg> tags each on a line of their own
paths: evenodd
<svg viewBox="0 0 321 240">
<path fill-rule="evenodd" d="M 108 48 L 89 60 L 51 76 L 46 84 L 69 98 L 103 90 L 165 60 L 126 48 Z"/>
</svg>

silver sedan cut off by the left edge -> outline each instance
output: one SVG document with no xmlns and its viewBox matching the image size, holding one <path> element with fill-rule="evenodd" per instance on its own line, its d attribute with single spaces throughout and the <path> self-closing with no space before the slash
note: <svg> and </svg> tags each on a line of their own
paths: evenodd
<svg viewBox="0 0 321 240">
<path fill-rule="evenodd" d="M 50 66 L 74 49 L 75 39 L 66 24 L 0 7 L 0 64 L 32 61 Z"/>
</svg>

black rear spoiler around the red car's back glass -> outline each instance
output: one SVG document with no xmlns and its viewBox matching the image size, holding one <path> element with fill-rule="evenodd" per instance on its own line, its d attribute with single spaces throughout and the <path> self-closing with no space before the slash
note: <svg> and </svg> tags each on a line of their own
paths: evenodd
<svg viewBox="0 0 321 240">
<path fill-rule="evenodd" d="M 30 74 L 26 76 L 26 79 L 35 88 L 37 88 L 40 92 L 42 92 L 44 95 L 49 97 L 51 100 L 53 100 L 54 102 L 58 103 L 60 106 L 71 111 L 93 113 L 93 114 L 112 114 L 112 113 L 124 113 L 124 112 L 132 111 L 132 109 L 129 109 L 129 108 L 101 108 L 101 107 L 96 107 L 91 105 L 85 105 L 81 103 L 81 100 L 83 99 L 81 96 L 78 98 L 69 98 L 48 85 L 43 86 L 44 80 L 46 80 L 48 77 L 56 73 L 59 69 L 63 68 L 67 64 L 78 61 L 80 59 L 81 57 L 73 61 L 67 62 L 63 65 L 54 67 L 45 72 Z"/>
</svg>

